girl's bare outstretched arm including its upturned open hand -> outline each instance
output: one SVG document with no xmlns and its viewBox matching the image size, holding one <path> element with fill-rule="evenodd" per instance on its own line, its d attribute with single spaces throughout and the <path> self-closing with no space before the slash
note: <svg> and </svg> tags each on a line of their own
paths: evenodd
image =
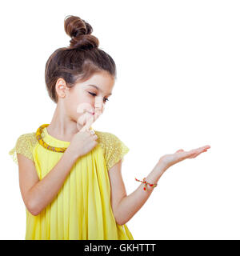
<svg viewBox="0 0 240 256">
<path fill-rule="evenodd" d="M 146 182 L 158 183 L 158 179 L 170 166 L 186 158 L 195 158 L 198 154 L 206 152 L 209 148 L 210 146 L 207 145 L 190 151 L 181 149 L 174 154 L 165 154 L 159 159 L 150 174 L 146 176 Z M 126 195 L 125 186 L 122 181 L 121 167 L 122 161 L 120 160 L 110 168 L 108 173 L 110 177 L 111 206 L 114 218 L 119 225 L 124 225 L 140 210 L 155 188 L 147 185 L 146 190 L 143 190 L 145 185 L 141 182 L 141 185 L 133 193 Z"/>
</svg>

